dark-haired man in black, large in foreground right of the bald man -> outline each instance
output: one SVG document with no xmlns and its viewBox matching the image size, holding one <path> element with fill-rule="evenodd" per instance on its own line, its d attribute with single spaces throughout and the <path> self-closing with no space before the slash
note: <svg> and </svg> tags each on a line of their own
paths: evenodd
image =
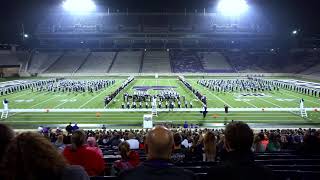
<svg viewBox="0 0 320 180">
<path fill-rule="evenodd" d="M 253 131 L 243 122 L 233 122 L 225 129 L 227 158 L 209 170 L 207 179 L 272 179 L 271 170 L 254 162 L 251 151 Z"/>
</svg>

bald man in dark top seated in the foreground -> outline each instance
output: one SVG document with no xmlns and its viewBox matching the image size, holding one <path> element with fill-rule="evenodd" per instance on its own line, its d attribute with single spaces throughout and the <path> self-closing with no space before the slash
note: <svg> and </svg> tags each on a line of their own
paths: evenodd
<svg viewBox="0 0 320 180">
<path fill-rule="evenodd" d="M 192 172 L 177 168 L 171 164 L 173 148 L 172 132 L 163 126 L 156 126 L 146 137 L 145 150 L 147 160 L 135 169 L 120 175 L 123 180 L 193 180 Z"/>
</svg>

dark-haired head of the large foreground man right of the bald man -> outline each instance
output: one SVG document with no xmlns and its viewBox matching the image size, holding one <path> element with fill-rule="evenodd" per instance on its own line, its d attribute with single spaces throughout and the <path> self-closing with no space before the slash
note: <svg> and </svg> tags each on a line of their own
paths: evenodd
<svg viewBox="0 0 320 180">
<path fill-rule="evenodd" d="M 253 131 L 243 122 L 232 122 L 225 129 L 225 147 L 228 152 L 248 152 L 253 142 Z"/>
</svg>

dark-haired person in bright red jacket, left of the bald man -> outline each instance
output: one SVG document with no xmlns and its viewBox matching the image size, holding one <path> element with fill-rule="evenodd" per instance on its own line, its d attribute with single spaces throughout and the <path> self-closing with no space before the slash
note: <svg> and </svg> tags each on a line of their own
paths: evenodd
<svg viewBox="0 0 320 180">
<path fill-rule="evenodd" d="M 86 135 L 83 131 L 73 132 L 71 146 L 67 146 L 63 155 L 71 165 L 80 165 L 89 176 L 103 175 L 105 163 L 101 155 L 87 148 L 85 145 Z"/>
</svg>

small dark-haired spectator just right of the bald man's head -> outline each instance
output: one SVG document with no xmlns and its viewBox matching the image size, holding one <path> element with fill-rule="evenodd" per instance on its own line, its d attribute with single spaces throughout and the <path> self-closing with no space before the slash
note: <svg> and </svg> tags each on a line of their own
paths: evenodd
<svg viewBox="0 0 320 180">
<path fill-rule="evenodd" d="M 173 163 L 184 162 L 187 155 L 187 149 L 181 146 L 182 137 L 180 133 L 175 133 L 173 136 L 174 148 L 171 155 Z"/>
</svg>

